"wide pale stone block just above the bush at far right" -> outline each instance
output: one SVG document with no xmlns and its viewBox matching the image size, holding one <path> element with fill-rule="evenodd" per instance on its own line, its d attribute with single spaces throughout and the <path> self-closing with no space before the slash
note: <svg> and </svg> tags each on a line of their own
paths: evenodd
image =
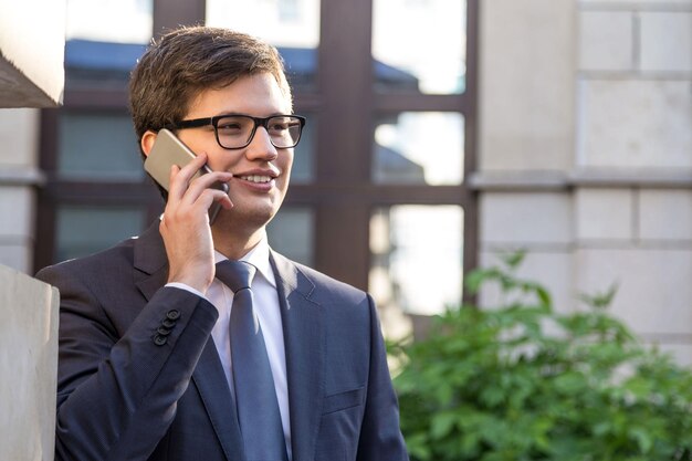
<svg viewBox="0 0 692 461">
<path fill-rule="evenodd" d="M 644 335 L 692 334 L 692 250 L 579 249 L 579 293 L 618 292 L 610 312 Z"/>
</svg>

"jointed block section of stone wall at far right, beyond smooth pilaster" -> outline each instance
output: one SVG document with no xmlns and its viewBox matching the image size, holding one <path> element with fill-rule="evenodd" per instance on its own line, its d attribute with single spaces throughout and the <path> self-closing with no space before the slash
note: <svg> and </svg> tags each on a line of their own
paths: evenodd
<svg viewBox="0 0 692 461">
<path fill-rule="evenodd" d="M 692 363 L 692 1 L 583 1 L 575 284 Z"/>
</svg>

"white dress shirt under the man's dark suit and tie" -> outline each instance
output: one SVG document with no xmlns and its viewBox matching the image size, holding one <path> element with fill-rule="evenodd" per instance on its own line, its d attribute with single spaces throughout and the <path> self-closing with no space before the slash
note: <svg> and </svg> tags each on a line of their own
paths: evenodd
<svg viewBox="0 0 692 461">
<path fill-rule="evenodd" d="M 214 252 L 216 262 L 224 261 L 223 254 Z M 256 273 L 252 280 L 253 307 L 258 314 L 262 334 L 264 335 L 264 344 L 266 345 L 266 354 L 269 364 L 272 368 L 272 377 L 274 378 L 274 389 L 276 390 L 276 399 L 279 400 L 279 410 L 281 412 L 281 422 L 283 425 L 284 437 L 286 440 L 286 451 L 289 460 L 292 459 L 291 453 L 291 422 L 289 419 L 289 385 L 286 380 L 286 353 L 283 340 L 283 328 L 281 321 L 281 310 L 279 305 L 279 294 L 276 292 L 276 280 L 274 272 L 269 262 L 269 243 L 266 237 L 253 248 L 248 254 L 241 258 L 241 261 L 249 262 L 256 268 Z M 231 363 L 231 340 L 229 324 L 231 321 L 231 308 L 233 305 L 233 292 L 214 279 L 207 291 L 207 295 L 202 295 L 197 290 L 181 284 L 169 283 L 168 286 L 177 286 L 191 291 L 198 295 L 209 300 L 219 311 L 219 319 L 211 331 L 213 343 L 217 346 L 226 379 L 229 388 L 233 392 L 233 368 Z"/>
</svg>

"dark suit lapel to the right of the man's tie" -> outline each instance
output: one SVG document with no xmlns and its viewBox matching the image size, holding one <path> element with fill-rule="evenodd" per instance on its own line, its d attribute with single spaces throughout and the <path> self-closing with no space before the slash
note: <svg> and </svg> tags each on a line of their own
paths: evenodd
<svg viewBox="0 0 692 461">
<path fill-rule="evenodd" d="M 314 458 L 324 395 L 322 307 L 311 301 L 315 285 L 287 259 L 272 252 L 283 319 L 294 460 Z"/>
</svg>

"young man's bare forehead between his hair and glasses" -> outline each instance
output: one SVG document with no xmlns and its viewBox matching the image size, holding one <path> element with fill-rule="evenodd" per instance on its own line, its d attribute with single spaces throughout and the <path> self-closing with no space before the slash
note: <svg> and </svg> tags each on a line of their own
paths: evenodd
<svg viewBox="0 0 692 461">
<path fill-rule="evenodd" d="M 193 97 L 186 118 L 229 113 L 254 116 L 291 113 L 291 96 L 270 73 L 247 75 L 222 88 L 202 90 Z"/>
</svg>

